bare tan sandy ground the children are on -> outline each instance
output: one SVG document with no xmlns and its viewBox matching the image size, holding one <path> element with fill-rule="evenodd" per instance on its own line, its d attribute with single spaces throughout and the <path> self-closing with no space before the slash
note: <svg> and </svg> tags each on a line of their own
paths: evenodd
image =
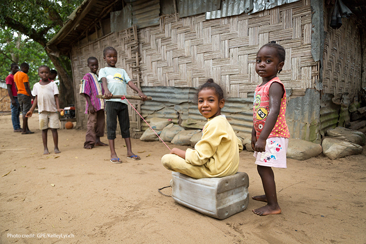
<svg viewBox="0 0 366 244">
<path fill-rule="evenodd" d="M 141 156 L 133 161 L 118 137 L 124 163 L 112 164 L 108 147 L 83 149 L 85 131 L 76 129 L 58 130 L 57 155 L 49 132 L 52 153 L 44 156 L 38 116 L 29 128 L 35 134 L 14 133 L 11 115 L 0 116 L 0 175 L 8 173 L 0 178 L 0 243 L 366 242 L 366 150 L 333 161 L 288 159 L 287 169 L 274 169 L 281 215 L 254 215 L 264 203 L 251 199 L 245 211 L 217 220 L 158 192 L 171 179 L 161 142 L 132 139 Z M 252 153 L 240 153 L 239 171 L 249 175 L 251 196 L 263 194 Z"/>
</svg>

